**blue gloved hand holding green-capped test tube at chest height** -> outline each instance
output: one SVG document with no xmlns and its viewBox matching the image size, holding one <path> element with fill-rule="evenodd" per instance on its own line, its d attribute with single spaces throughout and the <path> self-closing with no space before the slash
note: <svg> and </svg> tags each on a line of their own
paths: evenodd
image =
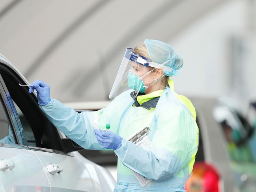
<svg viewBox="0 0 256 192">
<path fill-rule="evenodd" d="M 94 129 L 94 132 L 99 144 L 101 144 L 102 147 L 114 150 L 121 147 L 123 138 L 121 138 L 119 135 L 111 131 L 105 132 L 105 130 L 98 129 Z"/>
</svg>

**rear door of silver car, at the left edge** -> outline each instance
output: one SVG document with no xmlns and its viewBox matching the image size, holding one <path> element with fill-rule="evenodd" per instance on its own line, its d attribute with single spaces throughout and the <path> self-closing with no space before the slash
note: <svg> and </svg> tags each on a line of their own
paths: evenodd
<svg viewBox="0 0 256 192">
<path fill-rule="evenodd" d="M 34 151 L 24 146 L 22 127 L 9 99 L 0 84 L 0 191 L 49 192 L 43 165 Z"/>
</svg>

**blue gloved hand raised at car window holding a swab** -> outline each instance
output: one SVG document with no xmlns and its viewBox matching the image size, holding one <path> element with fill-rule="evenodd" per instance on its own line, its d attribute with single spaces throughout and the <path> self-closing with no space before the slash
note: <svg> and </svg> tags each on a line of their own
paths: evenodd
<svg viewBox="0 0 256 192">
<path fill-rule="evenodd" d="M 39 105 L 46 105 L 50 102 L 50 86 L 41 80 L 35 80 L 28 92 L 33 93 L 34 89 L 37 91 L 37 100 Z"/>
</svg>

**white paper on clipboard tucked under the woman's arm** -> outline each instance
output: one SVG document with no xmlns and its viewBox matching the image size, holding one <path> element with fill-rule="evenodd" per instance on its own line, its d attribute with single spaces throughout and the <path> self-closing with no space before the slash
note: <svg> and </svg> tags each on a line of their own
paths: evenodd
<svg viewBox="0 0 256 192">
<path fill-rule="evenodd" d="M 142 149 L 149 151 L 151 142 L 148 139 L 147 134 L 149 133 L 150 129 L 148 127 L 144 128 L 142 131 L 138 132 L 128 141 L 133 142 L 135 145 L 138 145 L 142 147 Z M 137 138 L 137 139 L 136 139 Z M 133 171 L 133 170 L 132 170 Z M 143 175 L 140 175 L 139 173 L 136 173 L 133 171 L 133 174 L 135 175 L 136 179 L 140 183 L 142 187 L 148 185 L 152 180 L 147 179 Z"/>
</svg>

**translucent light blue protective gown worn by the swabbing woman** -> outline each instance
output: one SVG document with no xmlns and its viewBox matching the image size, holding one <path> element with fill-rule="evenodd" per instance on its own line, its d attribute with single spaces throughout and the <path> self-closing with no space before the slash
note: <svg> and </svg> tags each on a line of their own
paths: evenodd
<svg viewBox="0 0 256 192">
<path fill-rule="evenodd" d="M 150 109 L 134 106 L 130 92 L 121 93 L 106 108 L 96 112 L 78 114 L 56 99 L 40 108 L 57 129 L 84 149 L 105 149 L 97 142 L 93 129 L 105 129 L 107 123 L 112 132 L 123 137 L 121 147 L 114 151 L 118 156 L 115 192 L 185 192 L 185 182 L 192 172 L 198 149 L 195 117 L 169 86 L 156 107 Z M 144 127 L 151 129 L 149 151 L 127 141 Z M 151 183 L 142 187 L 131 170 L 151 179 Z"/>
</svg>

